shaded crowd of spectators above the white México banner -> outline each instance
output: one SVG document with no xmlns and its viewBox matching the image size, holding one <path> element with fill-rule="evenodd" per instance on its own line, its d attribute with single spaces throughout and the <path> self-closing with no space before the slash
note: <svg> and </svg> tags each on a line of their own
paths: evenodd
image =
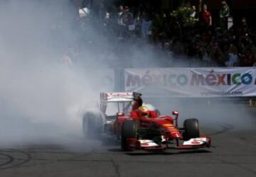
<svg viewBox="0 0 256 177">
<path fill-rule="evenodd" d="M 212 18 L 201 0 L 198 5 L 186 7 L 190 13 L 184 13 L 186 19 L 193 20 L 192 25 L 175 21 L 171 11 L 156 11 L 145 4 L 137 8 L 120 5 L 106 10 L 98 19 L 110 40 L 149 42 L 166 53 L 199 59 L 206 67 L 256 67 L 256 33 L 247 19 L 241 17 L 240 23 L 229 23 L 232 18 L 225 1 L 218 19 Z M 83 26 L 90 16 L 90 8 L 80 8 Z"/>
</svg>

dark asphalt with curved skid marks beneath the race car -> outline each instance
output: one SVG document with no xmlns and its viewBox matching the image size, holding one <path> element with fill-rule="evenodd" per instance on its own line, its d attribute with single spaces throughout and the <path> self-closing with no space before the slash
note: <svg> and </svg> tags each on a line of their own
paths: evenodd
<svg viewBox="0 0 256 177">
<path fill-rule="evenodd" d="M 206 113 L 212 109 L 203 108 Z M 213 139 L 210 149 L 121 152 L 112 142 L 68 137 L 68 146 L 0 146 L 0 176 L 256 176 L 256 108 L 239 110 L 248 113 L 245 117 L 214 110 L 218 121 L 213 113 L 208 114 L 211 119 L 200 119 L 201 134 Z"/>
</svg>

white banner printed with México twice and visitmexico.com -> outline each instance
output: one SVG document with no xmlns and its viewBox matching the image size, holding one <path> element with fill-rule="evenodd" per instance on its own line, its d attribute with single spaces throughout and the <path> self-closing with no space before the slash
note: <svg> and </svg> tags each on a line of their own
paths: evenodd
<svg viewBox="0 0 256 177">
<path fill-rule="evenodd" d="M 154 97 L 256 96 L 256 68 L 124 69 L 124 84 Z"/>
</svg>

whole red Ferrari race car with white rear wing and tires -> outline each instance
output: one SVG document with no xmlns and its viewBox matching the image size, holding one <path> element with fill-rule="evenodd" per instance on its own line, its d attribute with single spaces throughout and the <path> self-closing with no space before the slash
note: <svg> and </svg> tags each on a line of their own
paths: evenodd
<svg viewBox="0 0 256 177">
<path fill-rule="evenodd" d="M 142 105 L 141 93 L 100 93 L 100 113 L 85 113 L 85 136 L 112 136 L 122 150 L 197 149 L 210 147 L 210 137 L 201 136 L 198 120 L 191 118 L 178 127 L 178 111 L 160 115 Z M 112 104 L 114 106 L 108 105 Z M 107 109 L 112 110 L 110 115 Z"/>
</svg>

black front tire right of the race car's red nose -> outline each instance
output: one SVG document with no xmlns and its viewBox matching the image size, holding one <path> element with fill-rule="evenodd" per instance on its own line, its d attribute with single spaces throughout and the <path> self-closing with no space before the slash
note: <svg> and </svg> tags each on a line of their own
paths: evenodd
<svg viewBox="0 0 256 177">
<path fill-rule="evenodd" d="M 186 119 L 183 122 L 185 132 L 183 133 L 184 140 L 200 137 L 199 122 L 197 119 Z"/>
</svg>

